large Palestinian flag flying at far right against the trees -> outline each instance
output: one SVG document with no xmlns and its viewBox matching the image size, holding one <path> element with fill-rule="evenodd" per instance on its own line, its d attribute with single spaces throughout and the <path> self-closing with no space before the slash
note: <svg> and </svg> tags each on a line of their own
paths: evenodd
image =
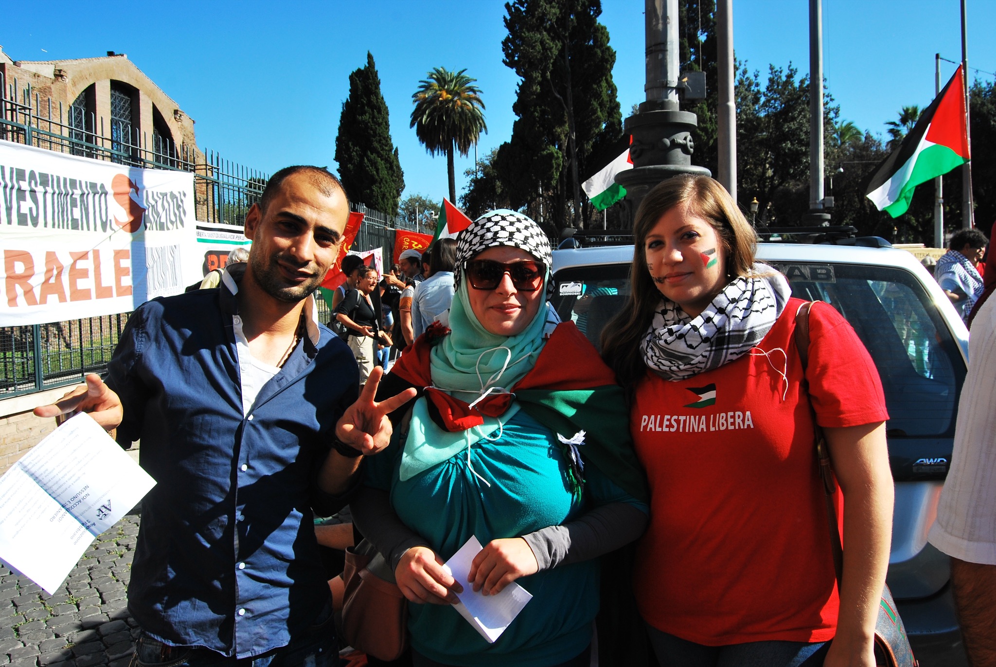
<svg viewBox="0 0 996 667">
<path fill-rule="evenodd" d="M 909 208 L 913 188 L 968 162 L 964 77 L 959 66 L 913 129 L 872 173 L 867 196 L 897 217 Z"/>
</svg>

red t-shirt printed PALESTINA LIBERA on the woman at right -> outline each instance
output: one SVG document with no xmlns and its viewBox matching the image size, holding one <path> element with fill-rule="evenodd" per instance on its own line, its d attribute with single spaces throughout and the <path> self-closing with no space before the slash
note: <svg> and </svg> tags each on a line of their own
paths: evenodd
<svg viewBox="0 0 996 667">
<path fill-rule="evenodd" d="M 709 646 L 834 637 L 826 500 L 793 338 L 802 303 L 791 299 L 751 354 L 680 382 L 648 371 L 636 389 L 630 430 L 651 520 L 634 588 L 659 630 Z M 810 340 L 821 426 L 885 421 L 878 372 L 832 306 L 814 305 Z"/>
</svg>

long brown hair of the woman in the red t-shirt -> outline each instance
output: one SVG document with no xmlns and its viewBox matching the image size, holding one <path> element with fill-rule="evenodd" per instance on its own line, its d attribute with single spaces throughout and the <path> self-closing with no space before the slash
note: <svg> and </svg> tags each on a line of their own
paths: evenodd
<svg viewBox="0 0 996 667">
<path fill-rule="evenodd" d="M 709 176 L 681 175 L 658 183 L 643 197 L 632 225 L 630 293 L 622 310 L 602 331 L 602 356 L 631 398 L 646 372 L 639 346 L 660 302 L 660 292 L 650 277 L 644 245 L 661 216 L 675 206 L 709 222 L 716 230 L 726 255 L 729 279 L 750 275 L 757 249 L 757 234 L 740 212 L 733 197 Z"/>
</svg>

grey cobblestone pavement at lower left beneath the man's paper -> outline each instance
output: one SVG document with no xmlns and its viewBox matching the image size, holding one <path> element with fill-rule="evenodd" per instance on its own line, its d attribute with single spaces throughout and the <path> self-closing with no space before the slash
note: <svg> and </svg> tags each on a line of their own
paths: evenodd
<svg viewBox="0 0 996 667">
<path fill-rule="evenodd" d="M 0 665 L 126 667 L 138 634 L 124 590 L 139 515 L 101 534 L 55 595 L 0 565 Z"/>
</svg>

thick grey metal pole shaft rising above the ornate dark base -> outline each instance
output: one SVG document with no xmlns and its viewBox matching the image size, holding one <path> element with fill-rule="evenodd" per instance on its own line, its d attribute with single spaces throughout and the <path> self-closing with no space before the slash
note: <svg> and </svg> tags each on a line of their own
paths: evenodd
<svg viewBox="0 0 996 667">
<path fill-rule="evenodd" d="M 647 102 L 678 108 L 678 0 L 644 0 Z"/>
</svg>

